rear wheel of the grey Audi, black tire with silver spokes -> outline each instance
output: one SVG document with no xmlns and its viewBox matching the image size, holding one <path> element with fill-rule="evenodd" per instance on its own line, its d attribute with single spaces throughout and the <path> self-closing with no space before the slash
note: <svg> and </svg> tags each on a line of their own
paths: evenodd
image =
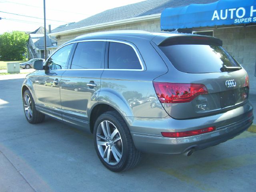
<svg viewBox="0 0 256 192">
<path fill-rule="evenodd" d="M 111 136 L 115 132 L 113 138 L 108 137 L 108 140 L 106 137 L 104 138 L 102 123 L 108 123 L 109 132 L 111 133 L 111 131 L 113 131 Z M 115 129 L 117 129 L 117 131 Z M 120 139 L 118 139 L 119 136 Z M 99 144 L 99 142 L 105 142 L 106 145 Z M 105 112 L 97 118 L 94 124 L 94 146 L 102 164 L 113 172 L 128 170 L 136 166 L 141 159 L 141 152 L 135 148 L 128 126 L 122 116 L 116 111 Z M 106 150 L 110 152 L 107 152 L 109 155 L 104 159 Z M 103 156 L 102 153 L 104 153 Z M 119 160 L 117 160 L 118 158 Z M 110 161 L 107 162 L 107 159 Z"/>
</svg>

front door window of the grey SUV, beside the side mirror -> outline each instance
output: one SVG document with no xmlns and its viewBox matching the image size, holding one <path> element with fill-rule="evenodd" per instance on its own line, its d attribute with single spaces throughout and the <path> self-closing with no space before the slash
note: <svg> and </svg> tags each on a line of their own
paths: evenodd
<svg viewBox="0 0 256 192">
<path fill-rule="evenodd" d="M 62 47 L 56 51 L 47 62 L 47 70 L 66 69 L 68 67 L 68 56 L 73 44 Z"/>
</svg>

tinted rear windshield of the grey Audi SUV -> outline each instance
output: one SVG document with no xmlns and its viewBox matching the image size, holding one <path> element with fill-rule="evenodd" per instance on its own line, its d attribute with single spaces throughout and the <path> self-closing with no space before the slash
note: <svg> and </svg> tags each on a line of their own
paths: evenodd
<svg viewBox="0 0 256 192">
<path fill-rule="evenodd" d="M 240 67 L 238 62 L 221 46 L 216 45 L 170 45 L 159 46 L 173 66 L 186 73 L 221 72 L 223 65 Z"/>
</svg>

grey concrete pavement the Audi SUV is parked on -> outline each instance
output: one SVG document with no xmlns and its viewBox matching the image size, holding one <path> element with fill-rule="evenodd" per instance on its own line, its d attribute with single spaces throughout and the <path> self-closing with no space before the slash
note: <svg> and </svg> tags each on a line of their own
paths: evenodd
<svg viewBox="0 0 256 192">
<path fill-rule="evenodd" d="M 0 192 L 255 192 L 256 133 L 190 157 L 144 154 L 135 168 L 114 173 L 98 159 L 92 134 L 49 117 L 26 121 L 24 76 L 0 76 Z M 256 106 L 255 95 L 250 100 Z"/>
</svg>

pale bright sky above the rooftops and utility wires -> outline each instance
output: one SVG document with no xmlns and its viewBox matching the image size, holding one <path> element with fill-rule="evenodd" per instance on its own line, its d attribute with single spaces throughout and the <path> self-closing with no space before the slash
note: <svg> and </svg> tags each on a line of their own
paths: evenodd
<svg viewBox="0 0 256 192">
<path fill-rule="evenodd" d="M 143 0 L 45 0 L 46 28 L 54 29 L 78 22 L 104 10 Z M 43 0 L 0 0 L 0 34 L 12 31 L 33 32 L 44 26 Z"/>
</svg>

